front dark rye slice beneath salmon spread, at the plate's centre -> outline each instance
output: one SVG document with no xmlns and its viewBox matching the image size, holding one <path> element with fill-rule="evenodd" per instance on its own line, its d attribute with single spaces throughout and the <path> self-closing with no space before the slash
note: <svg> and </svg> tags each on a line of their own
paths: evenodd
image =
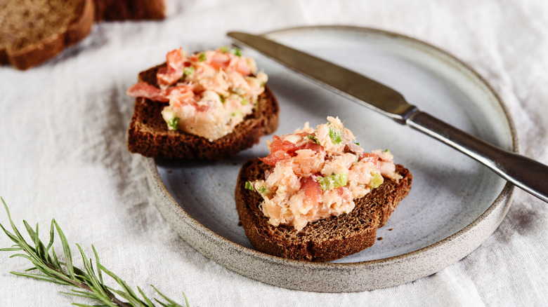
<svg viewBox="0 0 548 307">
<path fill-rule="evenodd" d="M 256 250 L 305 261 L 332 261 L 372 246 L 377 228 L 386 224 L 400 200 L 409 193 L 412 182 L 409 170 L 396 165 L 396 172 L 403 176 L 399 182 L 385 178 L 377 189 L 354 200 L 355 208 L 350 213 L 308 223 L 296 231 L 293 226 L 268 224 L 259 208 L 261 195 L 244 188 L 247 181 L 264 179 L 264 171 L 270 168 L 258 158 L 242 166 L 235 190 L 240 221 Z"/>
</svg>

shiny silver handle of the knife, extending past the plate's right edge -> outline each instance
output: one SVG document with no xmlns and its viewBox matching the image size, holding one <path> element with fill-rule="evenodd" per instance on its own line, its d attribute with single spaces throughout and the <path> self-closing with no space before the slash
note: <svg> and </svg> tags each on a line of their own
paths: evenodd
<svg viewBox="0 0 548 307">
<path fill-rule="evenodd" d="M 466 153 L 507 181 L 548 203 L 548 166 L 512 151 L 500 149 L 467 132 L 416 111 L 407 125 Z"/>
</svg>

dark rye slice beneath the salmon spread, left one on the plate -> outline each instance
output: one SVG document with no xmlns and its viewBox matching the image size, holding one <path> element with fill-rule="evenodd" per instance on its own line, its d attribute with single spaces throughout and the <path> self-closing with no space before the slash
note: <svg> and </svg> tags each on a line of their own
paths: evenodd
<svg viewBox="0 0 548 307">
<path fill-rule="evenodd" d="M 141 71 L 138 81 L 156 85 L 156 72 L 164 64 Z M 223 159 L 259 142 L 278 128 L 278 101 L 268 86 L 259 96 L 256 110 L 244 118 L 233 132 L 209 142 L 204 137 L 180 130 L 168 130 L 161 111 L 168 103 L 138 97 L 129 124 L 128 149 L 155 158 Z"/>
</svg>

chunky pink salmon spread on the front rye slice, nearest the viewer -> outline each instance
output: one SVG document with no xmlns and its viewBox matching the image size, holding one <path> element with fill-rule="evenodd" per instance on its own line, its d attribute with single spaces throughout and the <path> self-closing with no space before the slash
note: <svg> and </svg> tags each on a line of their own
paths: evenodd
<svg viewBox="0 0 548 307">
<path fill-rule="evenodd" d="M 267 141 L 270 154 L 260 160 L 273 169 L 246 187 L 261 193 L 261 209 L 273 226 L 300 231 L 308 222 L 351 212 L 353 200 L 380 186 L 384 177 L 401 178 L 390 151 L 366 153 L 338 117 L 327 120 Z"/>
</svg>

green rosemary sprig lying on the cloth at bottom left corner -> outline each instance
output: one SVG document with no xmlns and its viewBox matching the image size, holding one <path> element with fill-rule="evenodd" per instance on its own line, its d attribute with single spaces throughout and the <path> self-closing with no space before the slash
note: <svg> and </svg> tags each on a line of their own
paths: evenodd
<svg viewBox="0 0 548 307">
<path fill-rule="evenodd" d="M 152 307 L 155 306 L 154 303 L 145 295 L 143 290 L 141 290 L 140 287 L 137 287 L 139 294 L 141 294 L 141 298 L 139 298 L 135 292 L 122 280 L 119 278 L 115 273 L 112 273 L 111 271 L 108 271 L 107 268 L 105 268 L 103 265 L 100 264 L 99 257 L 97 255 L 97 251 L 95 250 L 95 247 L 91 245 L 91 248 L 93 249 L 93 254 L 95 256 L 95 266 L 96 268 L 93 268 L 93 263 L 91 259 L 88 259 L 86 255 L 84 254 L 84 251 L 81 249 L 79 245 L 76 245 L 78 247 L 78 250 L 81 255 L 81 259 L 84 263 L 84 270 L 74 267 L 72 265 L 72 254 L 70 253 L 70 247 L 67 242 L 67 238 L 65 238 L 65 234 L 63 231 L 61 231 L 61 228 L 57 224 L 55 219 L 51 220 L 51 228 L 49 231 L 49 243 L 47 246 L 44 246 L 44 243 L 41 242 L 41 240 L 38 237 L 38 224 L 36 225 L 36 229 L 33 229 L 27 221 L 23 220 L 23 224 L 25 224 L 25 228 L 27 229 L 27 232 L 29 233 L 30 238 L 32 239 L 32 243 L 34 247 L 32 247 L 27 241 L 21 236 L 21 233 L 19 232 L 18 228 L 15 227 L 15 224 L 13 224 L 13 221 L 11 219 L 10 212 L 8 210 L 8 205 L 6 205 L 6 202 L 4 201 L 4 198 L 1 198 L 2 203 L 4 204 L 4 207 L 6 208 L 6 213 L 8 214 L 8 219 L 11 224 L 11 228 L 13 229 L 13 233 L 10 233 L 9 231 L 6 231 L 6 228 L 0 224 L 0 227 L 6 233 L 8 238 L 10 238 L 15 245 L 12 245 L 8 248 L 2 248 L 0 251 L 3 252 L 24 252 L 24 253 L 18 253 L 11 255 L 10 258 L 13 257 L 22 257 L 34 264 L 34 267 L 29 268 L 25 270 L 25 273 L 20 272 L 10 272 L 14 275 L 20 275 L 25 276 L 28 278 L 34 278 L 37 280 L 46 280 L 48 282 L 55 282 L 60 285 L 69 285 L 73 287 L 77 287 L 80 289 L 84 289 L 85 291 L 79 290 L 79 289 L 71 289 L 71 292 L 61 292 L 63 294 L 69 294 L 73 296 L 81 296 L 86 297 L 88 299 L 91 299 L 93 301 L 98 301 L 100 305 L 96 306 L 122 306 L 122 307 L 130 307 L 130 306 L 143 306 L 143 307 Z M 53 239 L 54 235 L 57 232 L 58 237 L 61 241 L 61 245 L 63 246 L 63 254 L 65 256 L 65 262 L 59 261 L 56 251 L 53 248 Z M 51 251 L 51 252 L 50 252 Z M 39 271 L 41 274 L 37 273 L 28 273 L 30 271 Z M 103 282 L 103 273 L 109 275 L 112 279 L 114 279 L 120 287 L 122 287 L 121 290 L 114 289 L 112 287 L 109 287 L 105 285 Z M 175 301 L 169 299 L 167 296 L 162 294 L 162 292 L 159 292 L 156 287 L 152 286 L 153 289 L 155 289 L 155 292 L 159 294 L 159 296 L 162 296 L 164 301 L 159 301 L 158 299 L 155 299 L 157 303 L 159 303 L 161 306 L 164 307 L 183 307 L 176 303 Z M 119 296 L 121 299 L 118 299 L 117 296 Z M 185 306 L 188 307 L 188 300 L 186 299 L 185 294 L 183 293 L 183 297 L 185 299 Z M 86 305 L 83 303 L 72 303 L 76 306 L 86 306 L 86 307 L 92 307 L 91 305 Z"/>
</svg>

